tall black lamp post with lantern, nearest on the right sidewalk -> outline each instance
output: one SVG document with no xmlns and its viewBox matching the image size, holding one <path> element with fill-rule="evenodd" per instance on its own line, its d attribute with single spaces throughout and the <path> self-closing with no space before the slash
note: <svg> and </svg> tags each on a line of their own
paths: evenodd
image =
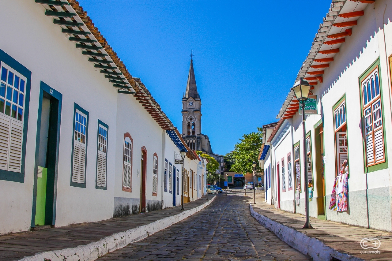
<svg viewBox="0 0 392 261">
<path fill-rule="evenodd" d="M 309 98 L 310 85 L 307 81 L 303 80 L 303 78 L 299 78 L 299 81 L 294 84 L 294 87 L 291 89 L 294 91 L 294 94 L 297 100 L 301 103 L 302 106 L 302 130 L 303 130 L 303 155 L 304 155 L 304 176 L 305 176 L 305 215 L 306 215 L 306 223 L 303 228 L 313 228 L 310 225 L 309 218 L 309 191 L 308 191 L 308 164 L 307 164 L 307 146 L 306 146 L 306 130 L 305 130 L 305 101 Z"/>
</svg>

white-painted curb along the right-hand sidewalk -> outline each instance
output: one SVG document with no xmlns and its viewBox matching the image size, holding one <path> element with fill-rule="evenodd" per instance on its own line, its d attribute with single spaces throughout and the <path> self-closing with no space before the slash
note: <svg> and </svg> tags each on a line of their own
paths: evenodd
<svg viewBox="0 0 392 261">
<path fill-rule="evenodd" d="M 294 228 L 282 225 L 281 223 L 257 213 L 253 210 L 252 204 L 249 204 L 249 208 L 252 217 L 261 225 L 274 232 L 275 235 L 287 243 L 287 245 L 292 246 L 302 254 L 313 257 L 314 261 L 328 261 L 331 260 L 332 257 L 341 261 L 364 261 L 364 259 L 338 252 L 314 237 L 309 237 Z"/>
</svg>

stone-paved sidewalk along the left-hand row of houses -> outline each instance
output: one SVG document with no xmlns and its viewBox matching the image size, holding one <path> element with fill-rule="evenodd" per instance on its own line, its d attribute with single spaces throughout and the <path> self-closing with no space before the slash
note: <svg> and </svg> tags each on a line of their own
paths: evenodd
<svg viewBox="0 0 392 261">
<path fill-rule="evenodd" d="M 209 200 L 212 197 L 212 195 L 209 195 Z M 184 204 L 184 208 L 185 210 L 190 210 L 206 202 L 207 200 L 204 196 L 201 199 Z M 5 234 L 0 236 L 0 261 L 17 260 L 39 252 L 87 245 L 99 241 L 103 237 L 148 225 L 154 221 L 181 213 L 184 213 L 184 211 L 181 211 L 181 206 L 178 206 L 145 214 L 116 217 L 92 223 Z"/>
</svg>

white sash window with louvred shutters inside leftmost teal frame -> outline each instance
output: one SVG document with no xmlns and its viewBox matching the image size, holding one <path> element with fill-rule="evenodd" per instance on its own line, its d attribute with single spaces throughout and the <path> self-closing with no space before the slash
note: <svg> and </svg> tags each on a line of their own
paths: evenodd
<svg viewBox="0 0 392 261">
<path fill-rule="evenodd" d="M 0 169 L 21 172 L 27 79 L 3 62 L 0 79 Z"/>
</svg>

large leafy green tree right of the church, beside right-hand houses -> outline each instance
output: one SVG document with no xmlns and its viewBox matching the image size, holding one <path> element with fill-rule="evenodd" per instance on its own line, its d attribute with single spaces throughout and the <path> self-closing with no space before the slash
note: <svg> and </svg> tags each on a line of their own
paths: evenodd
<svg viewBox="0 0 392 261">
<path fill-rule="evenodd" d="M 234 159 L 230 171 L 243 174 L 253 171 L 252 163 L 253 161 L 258 162 L 257 157 L 263 141 L 262 128 L 257 128 L 257 130 L 257 132 L 243 134 L 242 139 L 239 139 L 241 142 L 234 145 L 234 150 L 229 152 Z M 260 169 L 260 167 L 256 165 L 256 169 Z"/>
</svg>

